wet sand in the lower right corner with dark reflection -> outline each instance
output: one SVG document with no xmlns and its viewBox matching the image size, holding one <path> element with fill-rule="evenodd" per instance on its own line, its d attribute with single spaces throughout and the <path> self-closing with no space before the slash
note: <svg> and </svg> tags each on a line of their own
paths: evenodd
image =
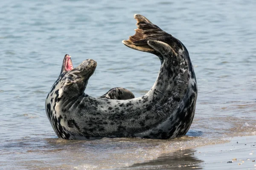
<svg viewBox="0 0 256 170">
<path fill-rule="evenodd" d="M 226 138 L 230 142 L 178 150 L 121 169 L 256 170 L 256 136 Z"/>
</svg>

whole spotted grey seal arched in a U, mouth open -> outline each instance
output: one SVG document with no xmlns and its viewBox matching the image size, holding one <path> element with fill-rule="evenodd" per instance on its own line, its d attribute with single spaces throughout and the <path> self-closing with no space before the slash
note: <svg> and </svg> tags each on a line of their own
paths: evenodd
<svg viewBox="0 0 256 170">
<path fill-rule="evenodd" d="M 45 102 L 47 116 L 59 138 L 171 139 L 189 130 L 197 99 L 189 53 L 179 40 L 142 15 L 134 18 L 136 33 L 122 42 L 159 57 L 161 67 L 153 87 L 138 98 L 124 88 L 113 88 L 98 98 L 89 96 L 84 90 L 96 61 L 87 59 L 73 68 L 66 54 L 61 74 Z"/>
</svg>

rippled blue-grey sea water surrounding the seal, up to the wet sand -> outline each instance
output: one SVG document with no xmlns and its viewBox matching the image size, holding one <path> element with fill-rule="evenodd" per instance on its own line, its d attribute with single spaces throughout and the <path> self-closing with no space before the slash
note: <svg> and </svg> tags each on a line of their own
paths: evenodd
<svg viewBox="0 0 256 170">
<path fill-rule="evenodd" d="M 129 167 L 221 143 L 220 137 L 256 135 L 255 7 L 253 0 L 1 2 L 0 169 Z M 124 87 L 138 97 L 154 84 L 159 59 L 121 43 L 134 34 L 134 14 L 143 14 L 189 51 L 199 93 L 187 136 L 57 139 L 44 100 L 65 54 L 75 66 L 97 61 L 86 89 L 90 96 Z"/>
</svg>

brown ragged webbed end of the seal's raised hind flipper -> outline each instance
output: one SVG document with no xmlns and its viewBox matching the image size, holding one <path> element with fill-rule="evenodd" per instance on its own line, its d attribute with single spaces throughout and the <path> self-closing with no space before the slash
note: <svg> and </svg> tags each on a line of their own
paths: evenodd
<svg viewBox="0 0 256 170">
<path fill-rule="evenodd" d="M 152 53 L 154 49 L 152 49 L 148 44 L 147 44 L 147 33 L 150 31 L 150 28 L 140 28 L 140 25 L 144 23 L 151 23 L 146 17 L 135 14 L 134 19 L 137 20 L 137 29 L 134 31 L 135 34 L 133 36 L 129 36 L 128 40 L 122 40 L 122 43 L 132 49 L 139 50 L 139 51 L 145 51 L 145 52 L 150 52 Z M 146 34 L 145 34 L 146 33 Z"/>
</svg>

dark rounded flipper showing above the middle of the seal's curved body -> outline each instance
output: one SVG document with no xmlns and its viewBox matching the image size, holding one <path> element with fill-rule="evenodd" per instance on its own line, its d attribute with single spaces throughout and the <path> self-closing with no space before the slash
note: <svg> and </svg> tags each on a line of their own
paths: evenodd
<svg viewBox="0 0 256 170">
<path fill-rule="evenodd" d="M 133 99 L 134 94 L 125 88 L 111 88 L 106 94 L 100 96 L 100 98 L 126 100 Z"/>
</svg>

